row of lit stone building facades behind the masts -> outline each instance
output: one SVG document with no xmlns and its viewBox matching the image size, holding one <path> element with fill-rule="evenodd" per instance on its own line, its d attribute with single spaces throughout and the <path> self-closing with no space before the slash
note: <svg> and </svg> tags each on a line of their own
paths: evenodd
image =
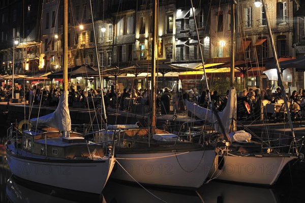
<svg viewBox="0 0 305 203">
<path fill-rule="evenodd" d="M 69 1 L 69 67 L 81 64 L 97 66 L 98 59 L 101 67 L 149 65 L 153 2 L 93 0 L 90 5 L 89 1 Z M 266 12 L 269 13 L 279 56 L 303 56 L 305 34 L 302 1 L 265 0 L 265 8 L 255 7 L 254 2 L 239 0 L 236 5 L 236 60 L 254 62 L 273 57 Z M 188 1 L 159 1 L 159 62 L 195 67 L 194 64 L 201 62 L 200 48 L 205 63 L 229 62 L 231 1 L 202 0 L 193 1 L 193 4 L 194 8 Z M 30 75 L 62 68 L 62 1 L 0 1 L 0 23 L 1 74 L 11 74 L 12 61 L 15 62 L 16 73 L 20 74 Z M 14 39 L 18 39 L 16 46 Z M 291 72 L 295 85 L 303 88 L 303 72 Z M 265 82 L 266 76 L 260 75 L 260 79 L 255 79 L 253 84 L 249 81 L 249 86 L 259 86 L 261 83 L 269 85 Z M 258 73 L 252 76 L 258 76 Z"/>
</svg>

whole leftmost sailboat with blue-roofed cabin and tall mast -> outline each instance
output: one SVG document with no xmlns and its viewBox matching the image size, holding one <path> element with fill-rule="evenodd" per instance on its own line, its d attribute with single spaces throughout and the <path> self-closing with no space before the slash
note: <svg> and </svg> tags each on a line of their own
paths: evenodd
<svg viewBox="0 0 305 203">
<path fill-rule="evenodd" d="M 103 145 L 71 132 L 68 108 L 68 0 L 64 3 L 64 92 L 56 110 L 30 120 L 30 130 L 8 130 L 6 154 L 13 175 L 40 184 L 100 194 L 114 159 Z"/>
</svg>

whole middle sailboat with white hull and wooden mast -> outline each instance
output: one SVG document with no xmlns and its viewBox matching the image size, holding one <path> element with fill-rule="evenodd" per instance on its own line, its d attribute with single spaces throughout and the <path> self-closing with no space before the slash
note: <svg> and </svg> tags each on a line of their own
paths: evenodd
<svg viewBox="0 0 305 203">
<path fill-rule="evenodd" d="M 214 162 L 215 148 L 206 143 L 180 141 L 175 134 L 156 129 L 157 0 L 154 1 L 154 29 L 151 74 L 151 117 L 147 128 L 119 129 L 113 154 L 117 168 L 111 177 L 158 187 L 197 189 L 206 180 L 207 166 Z M 113 126 L 112 126 L 113 127 Z M 123 128 L 123 125 L 115 126 Z M 127 126 L 130 127 L 130 126 Z M 108 128 L 111 130 L 111 128 Z"/>
</svg>

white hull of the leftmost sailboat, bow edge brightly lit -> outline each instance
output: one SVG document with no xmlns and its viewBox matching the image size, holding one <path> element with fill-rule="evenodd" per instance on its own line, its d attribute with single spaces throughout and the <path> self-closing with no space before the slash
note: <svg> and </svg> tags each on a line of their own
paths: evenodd
<svg viewBox="0 0 305 203">
<path fill-rule="evenodd" d="M 101 194 L 114 165 L 113 158 L 69 161 L 23 158 L 7 151 L 12 173 L 22 179 L 55 187 Z"/>
</svg>

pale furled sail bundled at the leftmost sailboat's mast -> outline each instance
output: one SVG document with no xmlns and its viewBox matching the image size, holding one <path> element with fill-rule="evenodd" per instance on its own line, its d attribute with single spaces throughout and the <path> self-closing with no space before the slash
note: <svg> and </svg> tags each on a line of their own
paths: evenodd
<svg viewBox="0 0 305 203">
<path fill-rule="evenodd" d="M 68 94 L 69 91 L 63 92 L 62 96 L 60 96 L 58 106 L 54 112 L 44 115 L 43 117 L 31 119 L 29 122 L 33 126 L 46 126 L 57 128 L 60 131 L 70 131 L 71 118 L 68 107 Z"/>
</svg>

